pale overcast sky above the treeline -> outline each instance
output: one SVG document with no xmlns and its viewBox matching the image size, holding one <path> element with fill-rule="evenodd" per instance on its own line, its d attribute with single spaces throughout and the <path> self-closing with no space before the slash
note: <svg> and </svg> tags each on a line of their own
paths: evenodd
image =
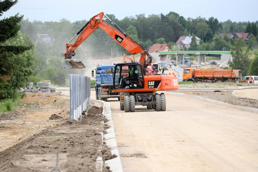
<svg viewBox="0 0 258 172">
<path fill-rule="evenodd" d="M 114 14 L 119 20 L 139 14 L 148 15 L 176 12 L 184 18 L 210 17 L 219 21 L 257 21 L 258 0 L 19 0 L 0 17 L 19 13 L 29 21 L 60 21 L 62 18 L 74 22 L 89 20 L 100 12 Z"/>
</svg>

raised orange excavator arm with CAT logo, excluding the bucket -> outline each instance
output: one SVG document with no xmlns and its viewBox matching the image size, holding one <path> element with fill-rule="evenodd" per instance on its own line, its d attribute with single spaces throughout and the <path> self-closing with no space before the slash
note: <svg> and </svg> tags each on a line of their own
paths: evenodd
<svg viewBox="0 0 258 172">
<path fill-rule="evenodd" d="M 113 28 L 111 25 L 103 21 L 103 17 L 106 17 L 112 25 L 114 25 L 117 29 Z M 103 29 L 111 38 L 113 38 L 117 43 L 119 43 L 122 47 L 124 47 L 130 54 L 134 55 L 135 53 L 140 53 L 139 62 L 142 63 L 144 68 L 147 68 L 148 64 L 151 63 L 152 57 L 149 55 L 147 50 L 135 42 L 127 35 L 119 26 L 117 26 L 114 21 L 110 20 L 104 12 L 101 12 L 94 17 L 92 17 L 78 32 L 77 34 L 66 44 L 66 53 L 62 53 L 62 56 L 65 59 L 71 59 L 75 52 L 74 50 L 81 45 L 83 41 L 85 41 L 97 28 Z M 70 44 L 71 41 L 76 37 L 74 44 Z"/>
</svg>

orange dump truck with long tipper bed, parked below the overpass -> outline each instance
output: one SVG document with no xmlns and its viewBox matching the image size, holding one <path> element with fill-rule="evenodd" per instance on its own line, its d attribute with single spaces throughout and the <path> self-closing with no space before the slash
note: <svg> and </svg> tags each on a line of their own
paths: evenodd
<svg viewBox="0 0 258 172">
<path fill-rule="evenodd" d="M 200 70 L 196 68 L 184 68 L 183 81 L 191 82 L 235 82 L 241 78 L 240 70 Z"/>
</svg>

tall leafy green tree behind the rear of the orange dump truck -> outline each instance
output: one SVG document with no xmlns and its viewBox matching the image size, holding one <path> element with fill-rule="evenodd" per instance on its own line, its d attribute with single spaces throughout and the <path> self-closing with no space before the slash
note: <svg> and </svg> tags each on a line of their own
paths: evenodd
<svg viewBox="0 0 258 172">
<path fill-rule="evenodd" d="M 236 40 L 234 50 L 231 52 L 232 61 L 229 61 L 229 67 L 240 69 L 242 75 L 246 76 L 250 66 L 250 59 L 248 57 L 250 50 L 242 39 Z"/>
</svg>

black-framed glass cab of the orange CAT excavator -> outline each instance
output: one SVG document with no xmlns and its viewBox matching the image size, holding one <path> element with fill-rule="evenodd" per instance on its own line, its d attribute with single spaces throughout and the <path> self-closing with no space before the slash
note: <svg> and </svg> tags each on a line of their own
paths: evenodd
<svg viewBox="0 0 258 172">
<path fill-rule="evenodd" d="M 141 63 L 116 64 L 114 71 L 114 89 L 144 88 L 144 70 Z"/>
</svg>

